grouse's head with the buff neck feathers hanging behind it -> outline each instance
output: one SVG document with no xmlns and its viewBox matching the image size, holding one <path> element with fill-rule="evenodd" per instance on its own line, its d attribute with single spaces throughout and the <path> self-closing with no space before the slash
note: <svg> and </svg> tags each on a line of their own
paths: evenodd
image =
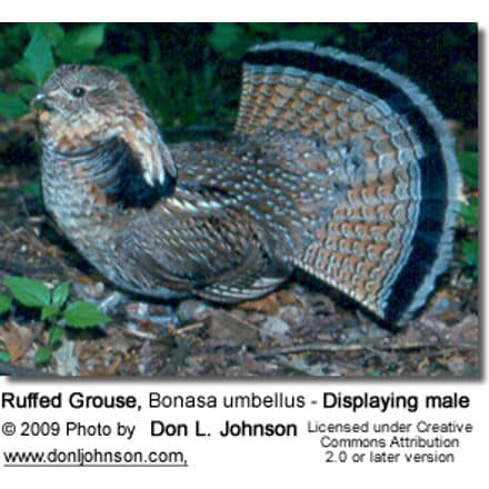
<svg viewBox="0 0 489 489">
<path fill-rule="evenodd" d="M 31 101 L 42 144 L 80 154 L 113 138 L 132 151 L 149 186 L 174 180 L 177 168 L 154 120 L 122 73 L 104 67 L 58 68 Z"/>
</svg>

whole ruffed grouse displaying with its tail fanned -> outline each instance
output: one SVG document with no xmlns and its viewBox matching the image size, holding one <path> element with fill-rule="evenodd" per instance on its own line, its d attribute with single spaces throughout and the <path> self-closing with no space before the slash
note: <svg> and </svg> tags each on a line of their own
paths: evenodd
<svg viewBox="0 0 489 489">
<path fill-rule="evenodd" d="M 227 142 L 164 144 L 108 68 L 63 66 L 34 101 L 46 207 L 129 291 L 233 302 L 299 268 L 402 323 L 448 266 L 452 138 L 427 97 L 379 63 L 255 47 Z"/>
</svg>

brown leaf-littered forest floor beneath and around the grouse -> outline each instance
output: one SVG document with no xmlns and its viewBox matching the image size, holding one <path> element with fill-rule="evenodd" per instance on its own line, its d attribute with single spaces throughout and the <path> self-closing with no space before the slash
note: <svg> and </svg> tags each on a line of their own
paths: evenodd
<svg viewBox="0 0 489 489">
<path fill-rule="evenodd" d="M 10 353 L 10 363 L 0 363 L 0 372 L 210 378 L 480 375 L 477 277 L 462 265 L 461 231 L 450 269 L 428 306 L 398 331 L 303 277 L 234 307 L 193 299 L 147 302 L 106 282 L 50 226 L 36 191 L 39 166 L 33 147 L 31 119 L 2 122 L 0 292 L 6 291 L 8 276 L 52 287 L 69 280 L 70 299 L 103 307 L 113 321 L 103 330 L 68 330 L 49 363 L 40 367 L 34 358 L 47 343 L 46 321 L 17 308 L 0 317 L 0 346 Z"/>
</svg>

